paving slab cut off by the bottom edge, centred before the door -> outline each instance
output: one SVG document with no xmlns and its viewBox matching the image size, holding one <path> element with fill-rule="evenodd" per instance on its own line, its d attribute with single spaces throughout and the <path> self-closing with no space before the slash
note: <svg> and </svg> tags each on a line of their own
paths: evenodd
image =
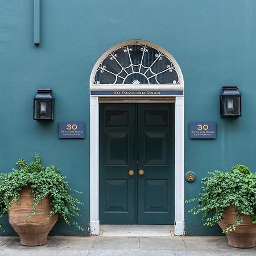
<svg viewBox="0 0 256 256">
<path fill-rule="evenodd" d="M 174 250 L 91 250 L 89 256 L 175 256 Z"/>
</svg>

